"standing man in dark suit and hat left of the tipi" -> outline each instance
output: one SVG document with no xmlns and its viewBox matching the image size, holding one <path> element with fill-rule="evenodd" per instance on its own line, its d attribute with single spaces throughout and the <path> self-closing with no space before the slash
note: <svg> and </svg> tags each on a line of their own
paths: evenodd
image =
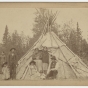
<svg viewBox="0 0 88 88">
<path fill-rule="evenodd" d="M 16 55 L 16 49 L 12 48 L 10 50 L 9 58 L 8 58 L 8 64 L 10 67 L 10 78 L 16 79 L 16 65 L 17 65 L 17 55 Z"/>
</svg>

